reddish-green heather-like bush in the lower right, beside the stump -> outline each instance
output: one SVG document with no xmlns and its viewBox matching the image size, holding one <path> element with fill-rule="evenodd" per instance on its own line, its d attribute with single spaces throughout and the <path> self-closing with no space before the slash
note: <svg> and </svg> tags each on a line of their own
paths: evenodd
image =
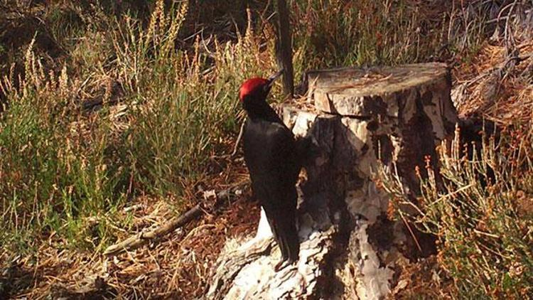
<svg viewBox="0 0 533 300">
<path fill-rule="evenodd" d="M 438 152 L 438 173 L 427 167 L 428 176 L 419 176 L 417 205 L 402 193 L 401 180 L 382 170 L 397 214 L 438 237 L 439 267 L 461 297 L 533 293 L 533 129 L 517 128 L 498 142 L 484 136 L 480 151 L 463 148 L 456 131 L 451 147 L 443 143 Z M 418 213 L 409 215 L 404 205 Z"/>
</svg>

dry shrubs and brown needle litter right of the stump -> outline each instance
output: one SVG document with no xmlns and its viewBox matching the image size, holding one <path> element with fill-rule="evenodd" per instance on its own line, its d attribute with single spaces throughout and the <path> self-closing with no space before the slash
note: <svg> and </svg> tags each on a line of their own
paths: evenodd
<svg viewBox="0 0 533 300">
<path fill-rule="evenodd" d="M 438 172 L 426 166 L 428 175 L 419 174 L 416 205 L 397 176 L 382 173 L 391 211 L 438 237 L 429 264 L 404 265 L 400 282 L 411 287 L 396 296 L 525 299 L 533 293 L 532 45 L 517 38 L 520 61 L 509 65 L 505 45 L 485 43 L 454 70 L 458 112 L 495 122 L 497 136 L 483 132 L 481 144 L 463 145 L 457 130 L 438 151 Z"/>
</svg>

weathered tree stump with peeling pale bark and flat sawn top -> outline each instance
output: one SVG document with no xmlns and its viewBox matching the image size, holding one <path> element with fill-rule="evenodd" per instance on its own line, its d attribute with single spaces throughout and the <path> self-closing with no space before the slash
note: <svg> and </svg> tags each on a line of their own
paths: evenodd
<svg viewBox="0 0 533 300">
<path fill-rule="evenodd" d="M 280 108 L 315 144 L 299 183 L 300 260 L 274 272 L 279 247 L 262 216 L 257 237 L 228 242 L 208 299 L 380 299 L 397 284 L 399 259 L 431 252 L 431 239 L 415 242 L 387 219 L 388 195 L 372 176 L 394 164 L 406 189 L 418 186 L 415 166 L 458 122 L 446 65 L 318 70 L 307 82 L 304 102 Z"/>
</svg>

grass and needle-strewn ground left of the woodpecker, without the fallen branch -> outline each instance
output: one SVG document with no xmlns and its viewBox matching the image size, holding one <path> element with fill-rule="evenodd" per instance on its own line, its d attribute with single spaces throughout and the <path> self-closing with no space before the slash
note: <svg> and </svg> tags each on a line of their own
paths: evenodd
<svg viewBox="0 0 533 300">
<path fill-rule="evenodd" d="M 9 103 L 0 116 L 1 297 L 200 293 L 222 235 L 248 233 L 259 213 L 242 210 L 254 205 L 241 200 L 201 221 L 203 230 L 187 227 L 124 264 L 101 253 L 194 205 L 199 186 L 247 180 L 242 162 L 217 156 L 232 151 L 239 83 L 273 61 L 252 27 L 235 41 L 198 36 L 176 49 L 185 3 L 166 13 L 158 1 L 146 27 L 94 9 L 59 71 L 33 39 L 23 73 L 15 66 L 1 80 Z M 163 271 L 147 275 L 154 266 Z"/>
</svg>

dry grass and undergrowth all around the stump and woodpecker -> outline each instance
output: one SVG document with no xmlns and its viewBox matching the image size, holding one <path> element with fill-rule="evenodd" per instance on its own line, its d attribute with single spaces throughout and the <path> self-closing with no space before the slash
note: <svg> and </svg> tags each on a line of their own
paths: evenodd
<svg viewBox="0 0 533 300">
<path fill-rule="evenodd" d="M 102 255 L 203 190 L 247 181 L 224 154 L 242 119 L 240 82 L 276 68 L 273 8 L 219 2 L 0 0 L 0 298 L 200 296 L 225 237 L 252 232 L 259 213 L 246 190 L 154 245 Z M 453 144 L 435 158 L 442 183 L 422 178 L 412 218 L 441 241 L 427 264 L 442 279 L 406 277 L 411 289 L 399 293 L 530 295 L 532 5 L 438 2 L 289 1 L 295 77 L 450 63 L 461 115 L 505 130 L 479 156 Z"/>
</svg>

